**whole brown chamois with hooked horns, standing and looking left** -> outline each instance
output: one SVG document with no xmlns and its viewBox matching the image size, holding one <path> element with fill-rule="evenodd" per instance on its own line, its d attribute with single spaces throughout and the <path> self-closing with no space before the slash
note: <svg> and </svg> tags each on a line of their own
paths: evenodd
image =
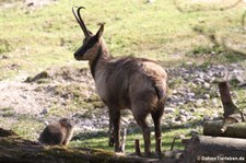
<svg viewBox="0 0 246 163">
<path fill-rule="evenodd" d="M 155 151 L 161 152 L 161 118 L 167 96 L 166 71 L 153 60 L 143 58 L 113 58 L 102 37 L 104 24 L 94 35 L 80 14 L 72 12 L 84 33 L 82 46 L 74 53 L 77 60 L 89 60 L 97 93 L 109 108 L 109 145 L 120 151 L 120 109 L 129 108 L 141 127 L 144 152 L 151 153 L 150 128 L 145 118 L 151 114 L 155 126 Z"/>
</svg>

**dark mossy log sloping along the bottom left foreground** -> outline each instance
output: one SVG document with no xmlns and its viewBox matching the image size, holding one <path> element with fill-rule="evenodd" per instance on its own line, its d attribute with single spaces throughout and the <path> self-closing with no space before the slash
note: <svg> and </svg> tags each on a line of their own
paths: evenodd
<svg viewBox="0 0 246 163">
<path fill-rule="evenodd" d="M 61 145 L 43 145 L 0 128 L 0 163 L 154 163 L 149 159 L 117 154 L 112 151 Z M 8 135 L 5 135 L 8 132 Z"/>
</svg>

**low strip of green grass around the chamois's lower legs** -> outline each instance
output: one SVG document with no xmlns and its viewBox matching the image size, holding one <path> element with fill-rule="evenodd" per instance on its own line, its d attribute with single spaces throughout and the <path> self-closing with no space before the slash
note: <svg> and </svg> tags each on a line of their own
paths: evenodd
<svg viewBox="0 0 246 163">
<path fill-rule="evenodd" d="M 188 136 L 189 130 L 187 128 L 173 128 L 173 129 L 165 129 L 163 131 L 163 138 L 162 138 L 162 147 L 163 150 L 169 150 L 172 147 L 172 142 L 174 137 L 178 135 Z M 188 136 L 190 137 L 190 136 Z M 142 133 L 139 129 L 134 129 L 134 132 L 127 133 L 127 140 L 126 140 L 126 153 L 133 153 L 134 152 L 134 140 L 140 139 L 140 145 L 141 150 L 143 152 L 143 138 Z M 155 140 L 154 136 L 151 135 L 151 142 L 152 142 L 152 151 L 155 149 Z M 108 147 L 108 137 L 105 131 L 101 132 L 90 132 L 84 133 L 75 137 L 73 141 L 71 141 L 70 147 L 85 147 L 85 148 L 95 148 L 95 149 L 104 149 L 114 151 L 113 147 Z M 184 144 L 181 144 L 180 139 L 177 139 L 174 144 L 174 149 L 184 149 Z"/>
</svg>

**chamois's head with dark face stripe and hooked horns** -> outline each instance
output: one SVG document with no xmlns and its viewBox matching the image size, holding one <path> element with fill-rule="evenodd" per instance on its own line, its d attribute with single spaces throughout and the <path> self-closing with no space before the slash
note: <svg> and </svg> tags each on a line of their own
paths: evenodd
<svg viewBox="0 0 246 163">
<path fill-rule="evenodd" d="M 104 24 L 101 25 L 97 33 L 94 35 L 92 32 L 90 32 L 80 14 L 80 10 L 85 9 L 84 7 L 80 7 L 77 10 L 77 13 L 74 11 L 74 7 L 72 8 L 72 12 L 80 24 L 83 33 L 84 33 L 84 39 L 82 43 L 82 46 L 74 53 L 74 58 L 77 60 L 91 60 L 95 57 L 95 54 L 98 51 L 98 47 L 101 46 L 101 37 L 104 32 Z"/>
</svg>

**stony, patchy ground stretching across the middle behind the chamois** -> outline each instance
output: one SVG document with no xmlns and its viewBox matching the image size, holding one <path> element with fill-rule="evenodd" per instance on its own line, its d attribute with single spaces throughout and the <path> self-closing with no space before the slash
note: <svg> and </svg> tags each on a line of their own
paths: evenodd
<svg viewBox="0 0 246 163">
<path fill-rule="evenodd" d="M 245 68 L 243 62 L 167 69 L 169 95 L 162 124 L 189 128 L 202 125 L 203 118 L 219 117 L 223 112 L 216 85 L 220 80 L 227 80 L 232 88 L 243 91 L 243 94 L 233 91 L 233 98 L 239 104 L 246 92 Z M 0 123 L 3 128 L 11 129 L 23 116 L 42 124 L 69 117 L 75 124 L 77 132 L 108 127 L 107 108 L 96 95 L 87 69 L 57 67 L 35 77 L 0 81 L 0 116 L 7 119 Z M 137 126 L 129 110 L 124 110 L 121 124 L 129 129 Z"/>
</svg>

